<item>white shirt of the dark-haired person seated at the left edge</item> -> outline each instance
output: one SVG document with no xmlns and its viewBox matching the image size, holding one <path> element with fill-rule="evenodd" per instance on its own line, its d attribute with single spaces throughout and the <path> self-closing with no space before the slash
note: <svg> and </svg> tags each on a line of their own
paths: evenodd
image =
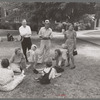
<svg viewBox="0 0 100 100">
<path fill-rule="evenodd" d="M 0 85 L 6 85 L 14 79 L 14 73 L 11 69 L 0 68 Z"/>
</svg>

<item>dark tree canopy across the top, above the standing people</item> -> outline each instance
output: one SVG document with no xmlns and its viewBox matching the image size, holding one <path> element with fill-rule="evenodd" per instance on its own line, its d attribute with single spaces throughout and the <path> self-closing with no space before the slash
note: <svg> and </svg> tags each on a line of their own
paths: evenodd
<svg viewBox="0 0 100 100">
<path fill-rule="evenodd" d="M 5 5 L 9 11 L 6 20 L 12 22 L 16 17 L 20 20 L 25 18 L 34 27 L 41 27 L 45 19 L 73 22 L 84 14 L 95 12 L 93 2 L 6 2 Z M 35 29 L 38 30 L 37 27 Z"/>
</svg>

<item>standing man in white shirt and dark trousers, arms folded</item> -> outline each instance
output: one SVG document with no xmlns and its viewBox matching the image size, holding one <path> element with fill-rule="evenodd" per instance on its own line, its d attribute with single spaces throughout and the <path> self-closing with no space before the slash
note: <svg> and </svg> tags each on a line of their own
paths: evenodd
<svg viewBox="0 0 100 100">
<path fill-rule="evenodd" d="M 32 42 L 31 42 L 31 28 L 30 26 L 27 25 L 27 22 L 26 20 L 22 20 L 22 26 L 19 28 L 19 33 L 22 37 L 22 41 L 21 41 L 21 45 L 22 45 L 22 49 L 23 49 L 23 53 L 25 55 L 25 58 L 26 58 L 26 61 L 28 62 L 27 60 L 27 56 L 26 56 L 26 51 L 27 49 L 31 49 L 31 45 L 32 45 Z"/>
</svg>

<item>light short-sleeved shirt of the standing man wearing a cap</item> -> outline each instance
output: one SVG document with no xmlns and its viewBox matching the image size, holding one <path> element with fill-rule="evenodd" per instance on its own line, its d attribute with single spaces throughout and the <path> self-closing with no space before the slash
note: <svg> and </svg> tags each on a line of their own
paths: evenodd
<svg viewBox="0 0 100 100">
<path fill-rule="evenodd" d="M 39 36 L 52 38 L 52 29 L 51 28 L 46 29 L 45 27 L 41 27 L 39 31 Z"/>
</svg>

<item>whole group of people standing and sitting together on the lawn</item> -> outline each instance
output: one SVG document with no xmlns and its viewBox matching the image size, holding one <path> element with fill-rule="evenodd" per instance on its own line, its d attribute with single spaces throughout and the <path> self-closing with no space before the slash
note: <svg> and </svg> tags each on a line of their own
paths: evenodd
<svg viewBox="0 0 100 100">
<path fill-rule="evenodd" d="M 64 72 L 64 66 L 71 69 L 75 68 L 73 52 L 76 49 L 76 32 L 72 24 L 63 31 L 66 41 L 62 45 L 62 48 L 66 50 L 67 59 L 63 58 L 63 52 L 61 52 L 60 49 L 56 49 L 54 57 L 50 57 L 53 34 L 49 20 L 45 20 L 45 26 L 39 31 L 41 43 L 38 52 L 37 46 L 32 44 L 31 28 L 27 25 L 25 19 L 22 20 L 22 26 L 19 28 L 19 33 L 23 52 L 21 48 L 18 47 L 15 49 L 10 60 L 2 59 L 0 68 L 0 90 L 13 90 L 23 81 L 25 77 L 24 71 L 29 67 L 33 68 L 34 73 L 41 73 L 39 78 L 35 78 L 41 84 L 50 83 L 50 79 L 61 76 L 61 73 Z M 68 62 L 67 64 L 65 63 L 66 61 Z M 72 62 L 71 65 L 70 61 Z M 42 63 L 45 64 L 46 67 L 37 69 L 36 66 Z M 20 74 L 16 75 L 16 72 Z M 47 75 L 48 77 L 43 77 Z"/>
</svg>

